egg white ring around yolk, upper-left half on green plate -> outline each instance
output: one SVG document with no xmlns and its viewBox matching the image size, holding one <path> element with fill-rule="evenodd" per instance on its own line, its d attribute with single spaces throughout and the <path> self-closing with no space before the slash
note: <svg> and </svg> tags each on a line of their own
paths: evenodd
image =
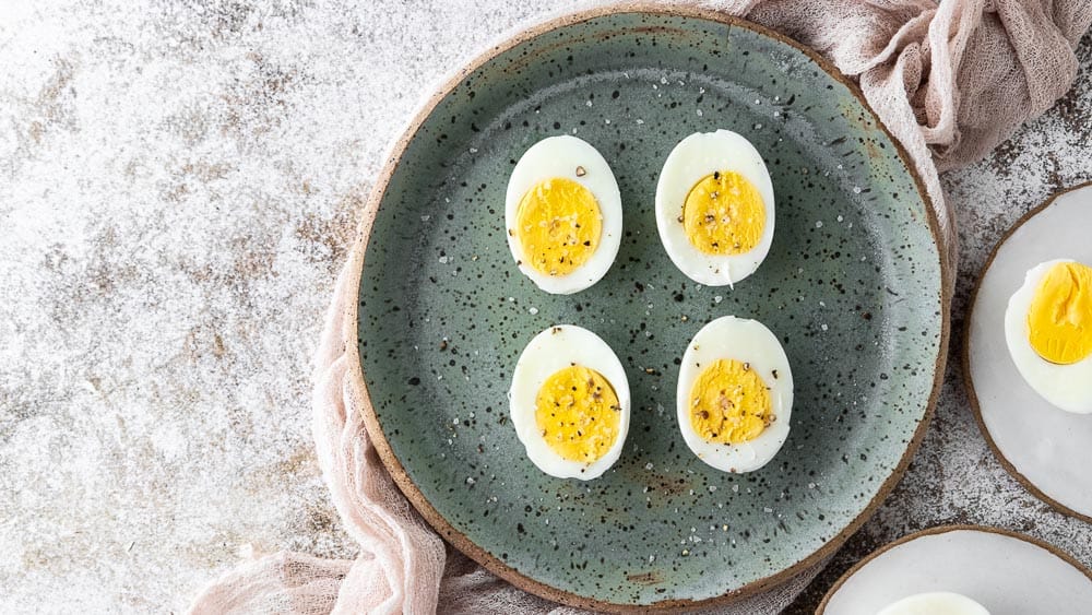
<svg viewBox="0 0 1092 615">
<path fill-rule="evenodd" d="M 577 167 L 583 167 L 584 175 L 578 176 Z M 598 202 L 603 216 L 603 232 L 595 251 L 584 264 L 566 275 L 547 275 L 531 267 L 531 259 L 524 256 L 523 247 L 514 233 L 520 200 L 538 182 L 556 177 L 571 179 L 586 188 Z M 515 164 L 508 180 L 505 197 L 508 248 L 520 272 L 541 289 L 554 295 L 583 291 L 606 275 L 621 244 L 621 193 L 610 165 L 595 147 L 575 137 L 562 134 L 535 143 Z"/>
</svg>

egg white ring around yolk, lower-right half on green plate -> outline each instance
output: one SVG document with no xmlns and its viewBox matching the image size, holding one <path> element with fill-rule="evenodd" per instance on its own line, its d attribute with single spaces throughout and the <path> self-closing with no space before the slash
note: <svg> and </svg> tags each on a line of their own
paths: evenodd
<svg viewBox="0 0 1092 615">
<path fill-rule="evenodd" d="M 770 388 L 774 422 L 755 439 L 738 445 L 707 441 L 690 424 L 690 390 L 701 372 L 722 358 L 749 363 Z M 776 378 L 773 370 L 778 370 Z M 744 473 L 762 468 L 785 443 L 793 411 L 793 372 L 781 342 L 757 320 L 723 316 L 705 324 L 682 355 L 676 409 L 682 439 L 699 459 L 723 472 Z"/>
</svg>

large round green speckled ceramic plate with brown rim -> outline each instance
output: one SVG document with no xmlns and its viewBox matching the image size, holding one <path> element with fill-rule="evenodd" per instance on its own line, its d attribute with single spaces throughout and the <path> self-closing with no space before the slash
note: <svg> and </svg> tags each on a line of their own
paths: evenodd
<svg viewBox="0 0 1092 615">
<path fill-rule="evenodd" d="M 653 197 L 672 147 L 729 128 L 778 194 L 765 262 L 735 289 L 667 258 Z M 509 173 L 577 134 L 612 165 L 625 238 L 595 286 L 536 289 L 509 255 Z M 604 610 L 731 601 L 833 552 L 902 474 L 947 345 L 947 271 L 905 155 L 815 54 L 749 23 L 663 5 L 596 9 L 489 50 L 412 122 L 382 173 L 359 300 L 366 412 L 383 462 L 440 534 L 497 575 Z M 675 419 L 678 364 L 705 322 L 757 318 L 796 379 L 793 428 L 758 472 L 719 472 Z M 524 457 L 506 391 L 555 323 L 600 334 L 628 371 L 630 434 L 589 483 Z"/>
</svg>

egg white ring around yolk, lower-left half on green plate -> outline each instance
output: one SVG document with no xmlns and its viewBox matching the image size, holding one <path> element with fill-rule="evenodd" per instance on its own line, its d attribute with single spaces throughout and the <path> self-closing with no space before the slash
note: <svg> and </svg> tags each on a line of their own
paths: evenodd
<svg viewBox="0 0 1092 615">
<path fill-rule="evenodd" d="M 543 439 L 535 421 L 535 398 L 538 390 L 550 376 L 573 364 L 602 374 L 614 388 L 618 405 L 621 406 L 617 439 L 603 457 L 592 463 L 570 461 L 554 452 Z M 512 425 L 527 451 L 527 458 L 550 476 L 590 481 L 606 472 L 621 454 L 629 433 L 629 380 L 610 346 L 587 329 L 574 324 L 558 324 L 535 335 L 515 363 L 508 399 Z"/>
</svg>

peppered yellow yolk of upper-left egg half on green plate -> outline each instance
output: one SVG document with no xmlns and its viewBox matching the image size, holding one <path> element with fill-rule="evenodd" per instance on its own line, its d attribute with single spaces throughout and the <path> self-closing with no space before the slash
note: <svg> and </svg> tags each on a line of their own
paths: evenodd
<svg viewBox="0 0 1092 615">
<path fill-rule="evenodd" d="M 602 233 L 600 204 L 577 181 L 539 181 L 520 199 L 515 235 L 527 264 L 539 273 L 572 273 L 595 252 Z"/>
</svg>

